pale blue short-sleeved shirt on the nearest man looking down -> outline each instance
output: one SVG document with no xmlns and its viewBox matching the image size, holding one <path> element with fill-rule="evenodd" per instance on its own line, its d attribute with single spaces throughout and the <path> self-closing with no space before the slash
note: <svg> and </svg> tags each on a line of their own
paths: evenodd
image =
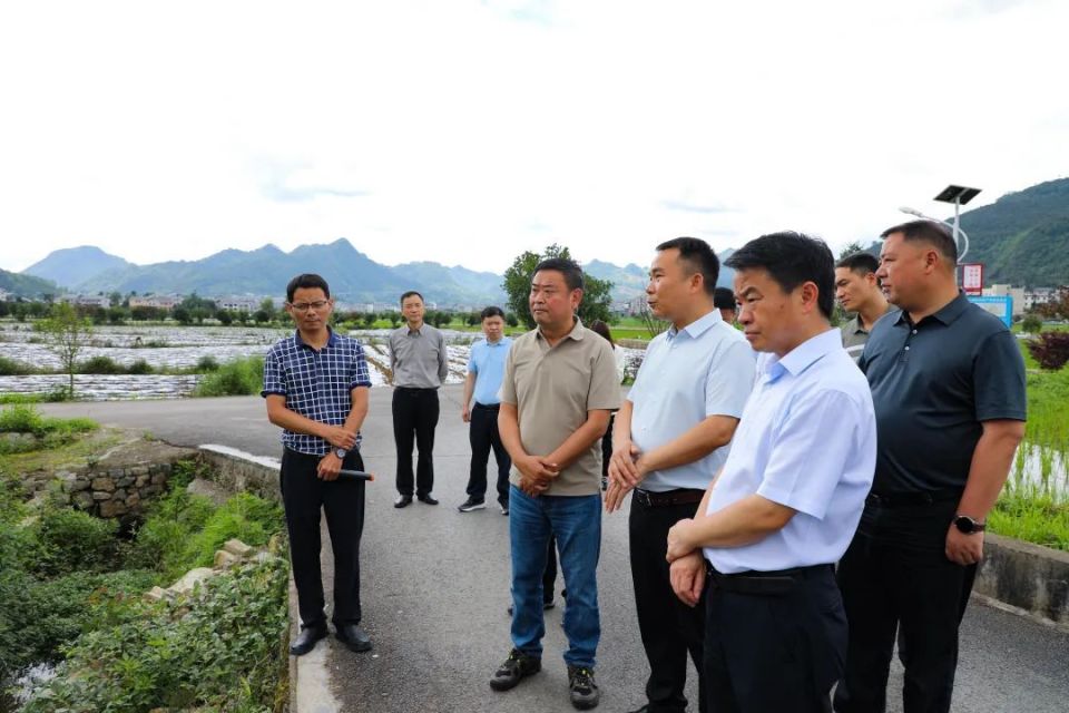
<svg viewBox="0 0 1069 713">
<path fill-rule="evenodd" d="M 744 547 L 706 547 L 724 574 L 837 561 L 857 529 L 876 463 L 876 421 L 864 374 L 828 329 L 777 359 L 762 354 L 706 514 L 757 494 L 797 510 Z"/>
</svg>

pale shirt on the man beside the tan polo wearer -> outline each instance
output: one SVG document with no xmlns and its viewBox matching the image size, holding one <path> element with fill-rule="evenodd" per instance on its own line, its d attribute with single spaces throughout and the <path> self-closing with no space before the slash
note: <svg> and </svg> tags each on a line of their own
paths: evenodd
<svg viewBox="0 0 1069 713">
<path fill-rule="evenodd" d="M 673 441 L 710 416 L 739 418 L 754 385 L 756 353 L 719 310 L 679 331 L 671 328 L 646 348 L 631 402 L 631 441 L 643 452 Z M 729 446 L 690 463 L 655 470 L 639 487 L 664 492 L 705 490 L 727 460 Z"/>
</svg>

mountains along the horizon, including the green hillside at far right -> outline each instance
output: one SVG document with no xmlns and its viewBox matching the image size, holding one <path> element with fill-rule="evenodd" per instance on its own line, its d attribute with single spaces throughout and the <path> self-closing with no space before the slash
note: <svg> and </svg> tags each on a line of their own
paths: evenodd
<svg viewBox="0 0 1069 713">
<path fill-rule="evenodd" d="M 1011 193 L 969 211 L 961 216 L 961 226 L 971 238 L 965 262 L 985 263 L 988 284 L 1069 284 L 1069 178 Z M 732 252 L 720 254 L 722 263 Z M 634 263 L 620 267 L 594 260 L 583 267 L 595 277 L 614 283 L 616 301 L 635 297 L 646 287 L 646 267 Z M 443 306 L 504 301 L 499 274 L 433 262 L 391 267 L 371 260 L 345 238 L 327 245 L 302 245 L 288 253 L 265 245 L 151 265 L 134 265 L 85 245 L 55 251 L 21 274 L 0 271 L 0 289 L 22 295 L 56 293 L 59 287 L 82 293 L 277 295 L 302 271 L 322 274 L 345 302 L 394 302 L 405 290 L 419 290 L 428 301 Z M 734 273 L 722 265 L 717 284 L 729 286 L 733 277 Z"/>
</svg>

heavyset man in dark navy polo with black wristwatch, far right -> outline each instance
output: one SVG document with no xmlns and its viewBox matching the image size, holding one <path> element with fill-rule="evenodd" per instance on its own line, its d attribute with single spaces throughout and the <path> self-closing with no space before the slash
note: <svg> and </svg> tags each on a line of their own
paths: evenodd
<svg viewBox="0 0 1069 713">
<path fill-rule="evenodd" d="M 1024 363 L 1006 325 L 958 291 L 941 224 L 889 228 L 876 276 L 900 311 L 873 326 L 872 492 L 838 566 L 850 624 L 835 711 L 883 711 L 900 628 L 905 713 L 950 710 L 958 627 L 983 556 L 983 522 L 1024 434 Z"/>
</svg>

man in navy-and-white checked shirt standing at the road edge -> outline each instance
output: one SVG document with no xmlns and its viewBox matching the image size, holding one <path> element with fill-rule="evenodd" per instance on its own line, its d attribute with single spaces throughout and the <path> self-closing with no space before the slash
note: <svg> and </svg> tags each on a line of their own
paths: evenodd
<svg viewBox="0 0 1069 713">
<path fill-rule="evenodd" d="M 286 311 L 297 329 L 264 360 L 267 418 L 282 431 L 282 500 L 290 558 L 301 609 L 301 634 L 290 653 L 301 656 L 326 636 L 320 572 L 320 509 L 334 551 L 337 638 L 367 651 L 360 627 L 360 537 L 364 529 L 364 481 L 339 480 L 339 471 L 363 470 L 360 427 L 367 416 L 367 362 L 360 343 L 327 325 L 334 301 L 318 275 L 297 275 L 286 286 Z"/>
</svg>

